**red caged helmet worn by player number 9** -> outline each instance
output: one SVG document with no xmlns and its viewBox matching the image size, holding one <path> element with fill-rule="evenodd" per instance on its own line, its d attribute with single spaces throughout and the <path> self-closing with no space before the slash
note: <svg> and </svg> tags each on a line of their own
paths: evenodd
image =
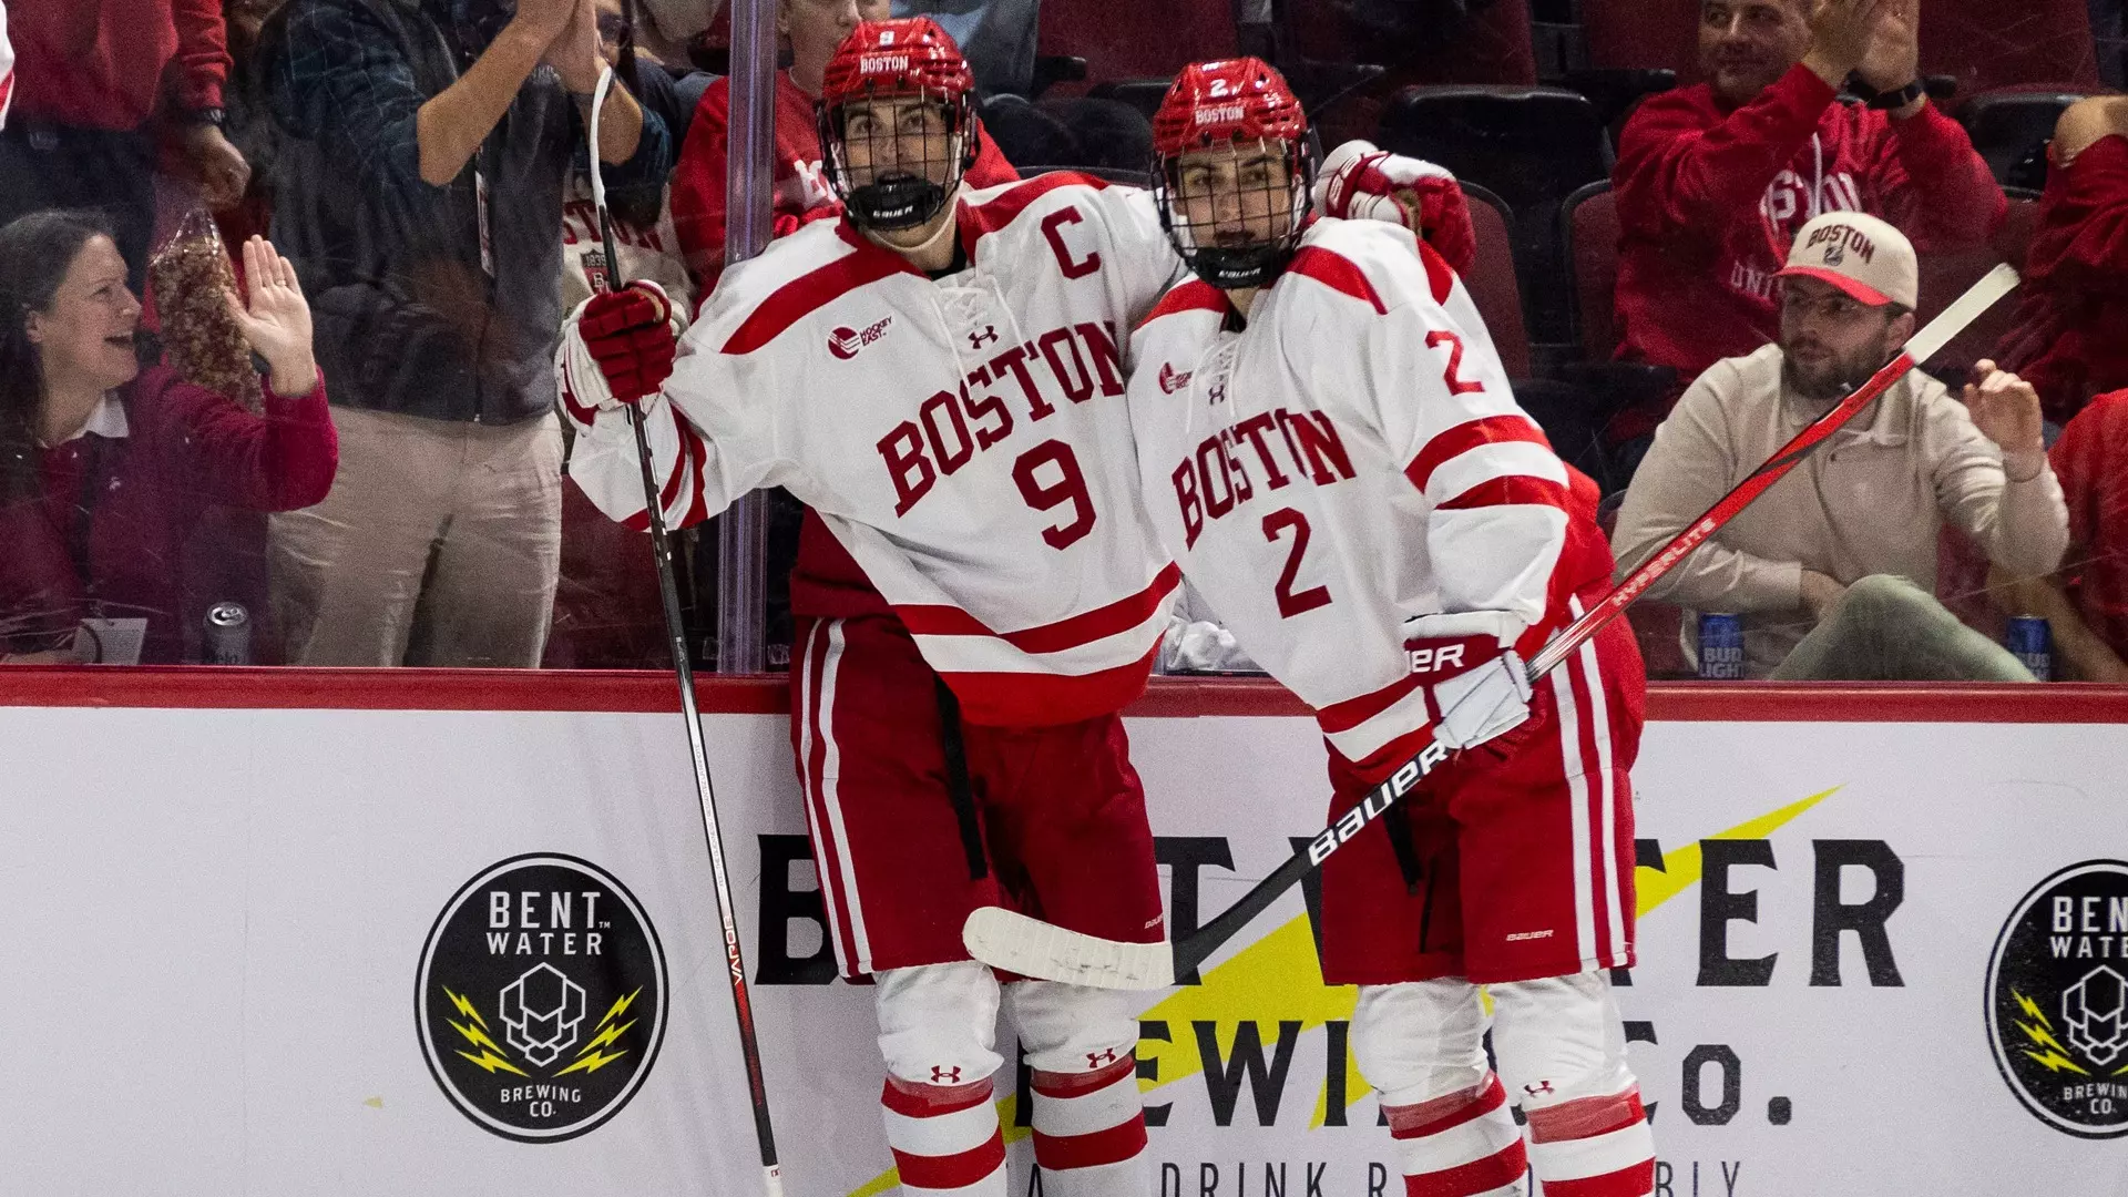
<svg viewBox="0 0 2128 1197">
<path fill-rule="evenodd" d="M 975 75 L 930 17 L 858 23 L 815 111 L 828 185 L 858 228 L 930 224 L 975 164 Z"/>
</svg>

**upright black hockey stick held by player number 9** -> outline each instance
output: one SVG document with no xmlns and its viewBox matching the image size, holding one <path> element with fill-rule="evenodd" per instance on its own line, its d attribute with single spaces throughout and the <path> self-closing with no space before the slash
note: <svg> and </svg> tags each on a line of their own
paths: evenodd
<svg viewBox="0 0 2128 1197">
<path fill-rule="evenodd" d="M 621 260 L 613 251 L 613 215 L 606 211 L 606 181 L 598 158 L 598 117 L 613 87 L 613 68 L 598 75 L 592 92 L 592 200 L 598 209 L 598 241 L 606 253 L 606 290 L 621 290 Z M 636 430 L 636 460 L 643 466 L 643 511 L 651 524 L 651 552 L 658 556 L 658 596 L 664 601 L 666 643 L 672 650 L 672 673 L 679 677 L 679 709 L 687 718 L 687 752 L 694 756 L 694 794 L 702 807 L 702 837 L 709 841 L 709 871 L 717 884 L 717 920 L 724 924 L 724 963 L 732 980 L 732 1014 L 738 1018 L 738 1052 L 747 1061 L 747 1097 L 753 1101 L 753 1135 L 762 1148 L 762 1182 L 768 1197 L 783 1197 L 783 1167 L 777 1163 L 777 1135 L 768 1125 L 768 1086 L 762 1078 L 762 1044 L 753 1033 L 753 1001 L 747 995 L 747 961 L 738 948 L 738 907 L 732 903 L 732 880 L 724 867 L 724 835 L 717 831 L 717 790 L 709 782 L 709 748 L 702 743 L 702 711 L 694 703 L 694 662 L 687 658 L 687 626 L 679 611 L 679 586 L 672 581 L 672 539 L 664 526 L 664 505 L 658 501 L 658 475 L 651 471 L 649 432 L 643 428 L 643 407 L 626 405 Z"/>
</svg>

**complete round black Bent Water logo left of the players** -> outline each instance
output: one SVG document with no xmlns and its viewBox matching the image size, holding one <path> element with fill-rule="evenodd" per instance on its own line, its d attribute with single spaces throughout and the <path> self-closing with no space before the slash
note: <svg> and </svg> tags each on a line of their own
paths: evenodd
<svg viewBox="0 0 2128 1197">
<path fill-rule="evenodd" d="M 664 948 L 611 873 L 553 852 L 464 884 L 421 948 L 428 1071 L 466 1118 L 528 1144 L 621 1112 L 658 1059 Z"/>
</svg>

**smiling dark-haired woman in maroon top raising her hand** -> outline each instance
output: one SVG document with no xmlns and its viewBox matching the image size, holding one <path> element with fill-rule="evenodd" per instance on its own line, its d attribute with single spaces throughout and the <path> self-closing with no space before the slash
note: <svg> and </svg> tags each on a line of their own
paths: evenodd
<svg viewBox="0 0 2128 1197">
<path fill-rule="evenodd" d="M 245 266 L 249 305 L 228 302 L 270 368 L 264 417 L 140 368 L 140 300 L 96 215 L 0 228 L 0 658 L 74 660 L 81 620 L 104 616 L 147 620 L 140 660 L 179 660 L 179 552 L 202 511 L 326 496 L 336 449 L 311 311 L 270 245 L 247 243 Z"/>
</svg>

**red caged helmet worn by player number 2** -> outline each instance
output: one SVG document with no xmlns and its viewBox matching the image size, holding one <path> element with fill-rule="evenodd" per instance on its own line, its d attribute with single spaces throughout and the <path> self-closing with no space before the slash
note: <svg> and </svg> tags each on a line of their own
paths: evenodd
<svg viewBox="0 0 2128 1197">
<path fill-rule="evenodd" d="M 1313 183 L 1309 119 L 1277 68 L 1230 58 L 1175 77 L 1153 113 L 1153 198 L 1200 279 L 1228 290 L 1275 279 L 1300 243 Z"/>
</svg>

